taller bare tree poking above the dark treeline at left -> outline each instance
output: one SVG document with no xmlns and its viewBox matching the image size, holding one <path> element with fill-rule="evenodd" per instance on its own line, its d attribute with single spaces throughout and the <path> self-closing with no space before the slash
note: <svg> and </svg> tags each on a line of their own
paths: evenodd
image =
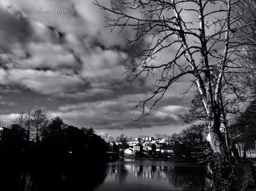
<svg viewBox="0 0 256 191">
<path fill-rule="evenodd" d="M 39 132 L 48 124 L 48 119 L 41 109 L 35 109 L 31 113 L 32 125 L 36 128 L 36 140 L 39 142 Z"/>
</svg>

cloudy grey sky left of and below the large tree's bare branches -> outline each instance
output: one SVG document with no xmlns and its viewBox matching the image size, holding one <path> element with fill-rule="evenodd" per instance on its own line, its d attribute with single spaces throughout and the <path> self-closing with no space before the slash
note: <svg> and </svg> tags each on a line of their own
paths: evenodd
<svg viewBox="0 0 256 191">
<path fill-rule="evenodd" d="M 0 122 L 19 112 L 42 109 L 110 139 L 179 132 L 187 109 L 187 80 L 170 87 L 151 114 L 139 122 L 135 109 L 151 93 L 151 79 L 125 81 L 125 36 L 106 28 L 92 1 L 0 1 Z M 165 55 L 162 55 L 165 57 Z"/>
</svg>

